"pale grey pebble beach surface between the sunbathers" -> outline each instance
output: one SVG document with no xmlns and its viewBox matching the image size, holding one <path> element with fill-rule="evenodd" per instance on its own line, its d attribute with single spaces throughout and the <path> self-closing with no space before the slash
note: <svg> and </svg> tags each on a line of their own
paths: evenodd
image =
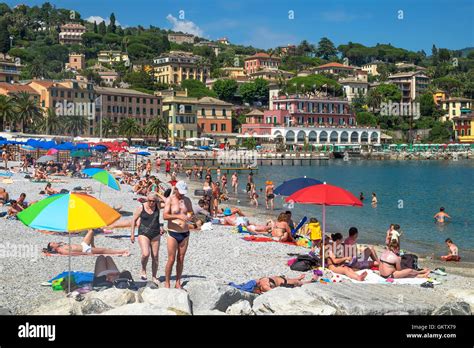
<svg viewBox="0 0 474 348">
<path fill-rule="evenodd" d="M 158 177 L 164 179 L 161 174 L 158 174 Z M 43 198 L 39 192 L 44 188 L 44 183 L 33 183 L 20 173 L 15 173 L 12 179 L 12 184 L 0 183 L 0 186 L 6 188 L 12 199 L 16 199 L 22 192 L 27 194 L 27 201 Z M 94 195 L 98 197 L 100 184 L 92 179 L 61 178 L 61 180 L 64 182 L 53 183 L 53 187 L 72 190 L 77 186 L 92 186 Z M 201 183 L 190 181 L 188 185 L 189 196 L 195 201 L 197 198 L 193 196 L 193 192 L 194 189 L 201 188 Z M 100 199 L 112 207 L 121 206 L 124 218 L 130 218 L 131 213 L 138 206 L 136 198 L 138 196 L 133 194 L 127 185 L 122 185 L 120 192 L 107 187 L 102 187 L 100 190 Z M 234 203 L 230 204 L 235 205 Z M 255 208 L 242 209 L 251 221 L 264 223 L 269 216 Z M 0 208 L 0 211 L 5 210 L 6 207 Z M 278 211 L 272 212 L 273 217 L 276 217 L 277 213 Z M 68 243 L 67 234 L 43 234 L 17 220 L 1 219 L 0 224 L 0 246 L 2 247 L 0 250 L 0 308 L 6 309 L 11 314 L 31 314 L 40 305 L 64 298 L 64 292 L 52 291 L 50 286 L 41 284 L 66 271 L 68 257 L 44 256 L 42 248 L 45 248 L 51 241 Z M 109 237 L 117 235 L 127 236 L 120 239 Z M 130 243 L 129 235 L 129 229 L 117 229 L 110 235 L 96 236 L 95 244 L 99 247 L 128 249 L 130 256 L 115 257 L 114 259 L 120 270 L 129 270 L 132 276 L 138 279 L 140 249 L 138 243 Z M 72 243 L 75 244 L 80 244 L 82 239 L 79 235 L 72 235 L 71 238 Z M 381 237 L 381 241 L 382 239 L 383 237 Z M 378 248 L 381 250 L 380 246 Z M 186 289 L 187 282 L 199 280 L 224 285 L 231 281 L 241 283 L 250 279 L 279 274 L 297 277 L 301 273 L 290 270 L 287 261 L 291 258 L 291 254 L 304 254 L 308 251 L 303 247 L 280 243 L 247 242 L 242 239 L 241 234 L 233 233 L 231 227 L 213 225 L 212 230 L 191 232 L 184 265 L 183 284 Z M 95 259 L 93 256 L 73 257 L 71 268 L 74 271 L 93 272 Z M 161 239 L 159 255 L 158 274 L 161 282 L 164 281 L 166 259 L 165 235 Z M 470 263 L 441 264 L 436 260 L 427 259 L 420 259 L 420 263 L 423 267 L 445 267 L 448 273 L 440 285 L 429 291 L 435 291 L 443 296 L 449 291 L 457 289 L 472 291 L 474 288 L 474 268 Z M 310 272 L 306 276 L 307 279 L 310 279 Z"/>
</svg>

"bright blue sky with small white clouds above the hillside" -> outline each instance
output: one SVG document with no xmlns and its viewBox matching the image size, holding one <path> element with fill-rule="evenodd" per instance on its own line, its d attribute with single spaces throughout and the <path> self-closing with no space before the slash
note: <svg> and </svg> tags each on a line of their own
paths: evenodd
<svg viewBox="0 0 474 348">
<path fill-rule="evenodd" d="M 40 5 L 44 1 L 6 1 Z M 83 18 L 115 13 L 123 26 L 150 24 L 209 39 L 270 48 L 323 36 L 336 46 L 391 43 L 410 50 L 474 46 L 473 0 L 51 0 Z M 183 11 L 183 12 L 180 12 Z M 293 11 L 293 12 L 290 12 Z M 403 11 L 399 12 L 399 11 Z M 289 18 L 293 14 L 293 19 Z M 181 17 L 180 17 L 181 15 Z M 184 16 L 184 19 L 182 18 Z M 402 19 L 399 17 L 403 16 Z"/>
</svg>

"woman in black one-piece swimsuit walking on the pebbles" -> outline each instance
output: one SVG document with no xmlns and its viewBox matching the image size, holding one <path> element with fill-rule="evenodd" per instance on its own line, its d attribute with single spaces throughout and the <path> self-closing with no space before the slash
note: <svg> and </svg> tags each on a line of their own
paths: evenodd
<svg viewBox="0 0 474 348">
<path fill-rule="evenodd" d="M 160 237 L 164 233 L 163 228 L 160 226 L 160 208 L 158 202 L 158 197 L 154 192 L 148 194 L 147 201 L 138 207 L 133 214 L 132 233 L 130 235 L 130 241 L 135 243 L 135 228 L 138 219 L 140 219 L 140 226 L 138 227 L 138 244 L 142 252 L 140 278 L 147 280 L 146 266 L 151 252 L 152 281 L 156 284 L 159 283 L 156 278 L 156 273 L 158 272 Z"/>
</svg>

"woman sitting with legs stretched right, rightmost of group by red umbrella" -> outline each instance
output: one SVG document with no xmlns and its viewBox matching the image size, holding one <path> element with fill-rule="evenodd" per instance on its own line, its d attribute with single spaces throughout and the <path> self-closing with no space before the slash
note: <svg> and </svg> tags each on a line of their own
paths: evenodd
<svg viewBox="0 0 474 348">
<path fill-rule="evenodd" d="M 402 269 L 402 258 L 399 256 L 400 244 L 392 239 L 387 250 L 380 256 L 379 272 L 383 278 L 427 278 L 430 270 L 427 268 L 417 271 L 412 268 Z"/>
</svg>

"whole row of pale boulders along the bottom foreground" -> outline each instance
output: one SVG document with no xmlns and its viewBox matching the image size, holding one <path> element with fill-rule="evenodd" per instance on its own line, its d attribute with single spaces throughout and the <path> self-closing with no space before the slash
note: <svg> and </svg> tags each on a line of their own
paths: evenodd
<svg viewBox="0 0 474 348">
<path fill-rule="evenodd" d="M 474 290 L 449 292 L 411 285 L 320 284 L 277 288 L 262 295 L 212 281 L 190 281 L 184 289 L 147 286 L 139 291 L 107 289 L 81 301 L 62 298 L 33 315 L 471 315 Z"/>
</svg>

